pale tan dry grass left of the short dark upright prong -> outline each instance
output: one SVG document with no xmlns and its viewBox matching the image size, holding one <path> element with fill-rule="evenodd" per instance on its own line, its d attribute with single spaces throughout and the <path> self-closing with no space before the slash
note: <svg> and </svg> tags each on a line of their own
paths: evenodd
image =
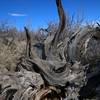
<svg viewBox="0 0 100 100">
<path fill-rule="evenodd" d="M 14 40 L 11 45 L 0 42 L 0 70 L 14 71 L 19 58 L 25 54 L 25 41 Z"/>
</svg>

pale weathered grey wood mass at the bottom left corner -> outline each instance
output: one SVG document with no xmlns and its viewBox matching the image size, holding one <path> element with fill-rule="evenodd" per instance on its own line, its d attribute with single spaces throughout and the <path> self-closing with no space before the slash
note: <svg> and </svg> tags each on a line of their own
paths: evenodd
<svg viewBox="0 0 100 100">
<path fill-rule="evenodd" d="M 23 70 L 0 73 L 0 98 L 1 100 L 29 100 L 43 84 L 41 76 L 35 72 Z"/>
</svg>

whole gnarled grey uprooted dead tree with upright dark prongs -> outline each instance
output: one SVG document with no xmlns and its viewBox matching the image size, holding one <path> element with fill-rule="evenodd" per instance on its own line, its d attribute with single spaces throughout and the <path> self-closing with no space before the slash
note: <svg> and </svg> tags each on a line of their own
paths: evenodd
<svg viewBox="0 0 100 100">
<path fill-rule="evenodd" d="M 66 18 L 61 0 L 56 5 L 58 29 L 43 43 L 32 46 L 25 27 L 26 55 L 16 72 L 0 72 L 0 100 L 100 99 L 100 25 L 79 28 L 62 39 Z"/>
</svg>

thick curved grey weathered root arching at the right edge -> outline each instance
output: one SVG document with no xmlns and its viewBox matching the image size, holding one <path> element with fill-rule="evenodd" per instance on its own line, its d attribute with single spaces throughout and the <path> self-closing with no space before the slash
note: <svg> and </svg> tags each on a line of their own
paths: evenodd
<svg viewBox="0 0 100 100">
<path fill-rule="evenodd" d="M 67 61 L 81 61 L 82 64 L 96 62 L 100 59 L 100 40 L 94 38 L 95 28 L 83 28 L 72 37 L 67 45 Z M 95 48 L 95 49 L 94 49 Z"/>
</svg>

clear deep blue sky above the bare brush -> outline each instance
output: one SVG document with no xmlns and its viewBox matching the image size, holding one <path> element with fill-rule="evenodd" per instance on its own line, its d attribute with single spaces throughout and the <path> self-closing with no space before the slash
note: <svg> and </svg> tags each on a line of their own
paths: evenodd
<svg viewBox="0 0 100 100">
<path fill-rule="evenodd" d="M 65 13 L 83 13 L 86 21 L 100 20 L 100 0 L 62 0 Z M 21 29 L 30 24 L 33 29 L 58 21 L 55 0 L 1 0 L 0 21 L 9 20 Z"/>
</svg>

